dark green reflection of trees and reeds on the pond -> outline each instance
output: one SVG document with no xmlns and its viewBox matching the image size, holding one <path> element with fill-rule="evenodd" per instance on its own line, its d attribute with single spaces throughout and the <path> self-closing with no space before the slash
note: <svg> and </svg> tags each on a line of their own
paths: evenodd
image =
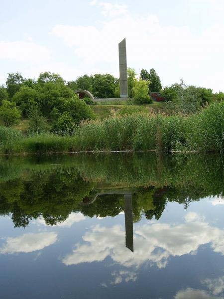
<svg viewBox="0 0 224 299">
<path fill-rule="evenodd" d="M 168 201 L 187 208 L 202 197 L 223 196 L 219 155 L 13 157 L 2 158 L 0 169 L 0 215 L 11 214 L 16 227 L 39 217 L 56 225 L 72 212 L 114 217 L 125 210 L 124 194 L 131 194 L 133 222 L 143 215 L 158 220 Z"/>
</svg>

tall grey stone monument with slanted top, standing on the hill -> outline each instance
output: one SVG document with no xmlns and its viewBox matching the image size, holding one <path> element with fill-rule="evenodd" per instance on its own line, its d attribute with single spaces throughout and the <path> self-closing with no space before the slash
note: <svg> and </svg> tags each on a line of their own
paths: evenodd
<svg viewBox="0 0 224 299">
<path fill-rule="evenodd" d="M 118 48 L 120 71 L 120 97 L 127 98 L 127 55 L 125 38 L 118 44 Z"/>
</svg>

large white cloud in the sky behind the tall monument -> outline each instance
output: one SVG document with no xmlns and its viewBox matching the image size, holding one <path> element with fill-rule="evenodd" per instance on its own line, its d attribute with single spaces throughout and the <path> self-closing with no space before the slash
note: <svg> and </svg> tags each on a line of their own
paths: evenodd
<svg viewBox="0 0 224 299">
<path fill-rule="evenodd" d="M 94 3 L 108 7 L 105 15 L 114 5 Z M 156 68 L 164 85 L 184 77 L 187 84 L 223 88 L 224 72 L 218 67 L 224 62 L 224 26 L 220 24 L 200 33 L 189 26 L 164 25 L 156 15 L 124 13 L 97 26 L 57 24 L 51 33 L 74 47 L 86 68 L 99 65 L 101 73 L 118 76 L 117 44 L 126 37 L 127 63 L 137 71 Z"/>
</svg>

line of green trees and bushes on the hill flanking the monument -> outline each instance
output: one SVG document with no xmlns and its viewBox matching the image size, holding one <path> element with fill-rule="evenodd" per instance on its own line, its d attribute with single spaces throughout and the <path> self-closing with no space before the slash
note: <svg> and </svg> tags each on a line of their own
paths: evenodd
<svg viewBox="0 0 224 299">
<path fill-rule="evenodd" d="M 154 69 L 142 69 L 137 79 L 133 68 L 127 69 L 128 97 L 133 104 L 151 103 L 150 92 L 160 92 L 166 106 L 172 111 L 195 113 L 213 101 L 222 101 L 224 93 L 214 94 L 212 89 L 186 86 L 180 83 L 162 87 Z M 5 86 L 0 86 L 0 117 L 6 127 L 15 125 L 21 118 L 29 118 L 30 131 L 72 134 L 81 120 L 95 119 L 89 98 L 80 100 L 76 89 L 86 89 L 96 98 L 119 97 L 119 79 L 111 74 L 84 75 L 66 82 L 60 75 L 44 72 L 37 80 L 9 73 Z"/>
</svg>

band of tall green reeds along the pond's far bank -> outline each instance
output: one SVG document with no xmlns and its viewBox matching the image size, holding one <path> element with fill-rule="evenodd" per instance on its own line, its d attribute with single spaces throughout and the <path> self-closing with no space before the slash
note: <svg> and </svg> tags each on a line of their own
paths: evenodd
<svg viewBox="0 0 224 299">
<path fill-rule="evenodd" d="M 24 137 L 17 130 L 0 127 L 1 153 L 102 150 L 223 152 L 224 102 L 190 116 L 136 113 L 85 121 L 73 136 L 48 133 Z"/>
</svg>

